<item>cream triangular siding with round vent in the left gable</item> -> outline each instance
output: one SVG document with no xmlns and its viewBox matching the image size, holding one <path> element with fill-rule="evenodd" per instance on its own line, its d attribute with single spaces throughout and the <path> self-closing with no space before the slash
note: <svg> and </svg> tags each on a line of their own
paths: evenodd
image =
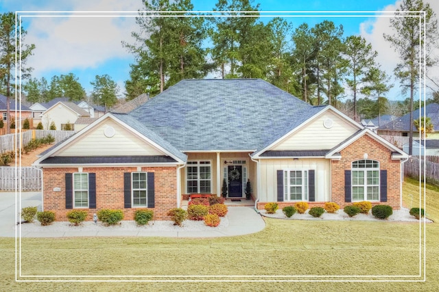
<svg viewBox="0 0 439 292">
<path fill-rule="evenodd" d="M 106 137 L 104 129 L 113 127 L 115 135 Z M 56 156 L 165 155 L 117 122 L 107 119 L 84 136 L 60 150 Z"/>
</svg>

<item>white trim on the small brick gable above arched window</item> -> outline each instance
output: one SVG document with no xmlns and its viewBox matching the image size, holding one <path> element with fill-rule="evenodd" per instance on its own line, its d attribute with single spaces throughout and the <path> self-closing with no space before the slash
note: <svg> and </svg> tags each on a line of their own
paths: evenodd
<svg viewBox="0 0 439 292">
<path fill-rule="evenodd" d="M 393 144 L 385 140 L 383 137 L 380 137 L 379 135 L 375 134 L 374 132 L 370 131 L 370 129 L 363 129 L 362 131 L 359 131 L 356 135 L 353 135 L 351 139 L 346 140 L 343 144 L 340 144 L 336 148 L 331 149 L 325 158 L 327 159 L 340 159 L 340 151 L 346 148 L 347 146 L 353 144 L 353 142 L 357 141 L 359 138 L 363 137 L 364 135 L 368 135 L 372 139 L 376 140 L 392 152 L 396 152 L 392 154 L 392 159 L 406 159 L 408 158 L 407 153 L 403 152 L 401 149 L 396 148 Z"/>
</svg>

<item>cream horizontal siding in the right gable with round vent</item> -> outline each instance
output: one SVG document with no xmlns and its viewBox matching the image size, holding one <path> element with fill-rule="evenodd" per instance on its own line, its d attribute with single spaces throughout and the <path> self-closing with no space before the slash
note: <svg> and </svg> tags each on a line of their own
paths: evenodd
<svg viewBox="0 0 439 292">
<path fill-rule="evenodd" d="M 331 119 L 332 127 L 324 127 L 324 120 Z M 311 121 L 304 128 L 285 137 L 270 150 L 322 150 L 331 149 L 358 131 L 350 122 L 341 116 L 327 111 Z"/>
</svg>

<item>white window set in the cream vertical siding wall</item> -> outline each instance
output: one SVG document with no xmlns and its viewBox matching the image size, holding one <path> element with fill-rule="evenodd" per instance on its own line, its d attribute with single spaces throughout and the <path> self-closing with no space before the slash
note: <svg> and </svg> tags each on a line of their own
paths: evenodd
<svg viewBox="0 0 439 292">
<path fill-rule="evenodd" d="M 307 201 L 308 200 L 308 171 L 284 170 L 283 171 L 283 200 Z"/>
</svg>

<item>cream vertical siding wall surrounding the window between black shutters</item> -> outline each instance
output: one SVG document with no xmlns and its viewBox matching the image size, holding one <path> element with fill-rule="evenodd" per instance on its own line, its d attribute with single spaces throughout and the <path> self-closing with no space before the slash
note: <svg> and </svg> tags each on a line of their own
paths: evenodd
<svg viewBox="0 0 439 292">
<path fill-rule="evenodd" d="M 261 202 L 277 201 L 277 170 L 316 170 L 316 202 L 331 200 L 329 159 L 261 159 Z"/>
</svg>

